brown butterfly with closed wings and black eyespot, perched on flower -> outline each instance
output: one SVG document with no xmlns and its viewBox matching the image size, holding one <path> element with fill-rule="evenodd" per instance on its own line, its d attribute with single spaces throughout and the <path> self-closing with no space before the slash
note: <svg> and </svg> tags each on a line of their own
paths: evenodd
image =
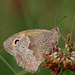
<svg viewBox="0 0 75 75">
<path fill-rule="evenodd" d="M 23 69 L 35 73 L 39 71 L 45 58 L 54 44 L 59 40 L 59 28 L 52 30 L 32 29 L 16 33 L 4 41 L 4 49 L 14 56 L 17 64 Z"/>
</svg>

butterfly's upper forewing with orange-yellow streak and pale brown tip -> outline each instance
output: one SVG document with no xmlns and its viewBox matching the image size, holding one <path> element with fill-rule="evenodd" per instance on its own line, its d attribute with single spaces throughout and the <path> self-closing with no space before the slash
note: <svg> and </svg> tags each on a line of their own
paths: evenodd
<svg viewBox="0 0 75 75">
<path fill-rule="evenodd" d="M 25 30 L 19 33 L 14 34 L 13 36 L 9 37 L 7 40 L 4 41 L 3 45 L 4 48 L 7 52 L 9 52 L 10 54 L 13 54 L 12 50 L 13 48 L 16 46 L 15 41 L 16 40 L 21 40 L 23 37 L 30 35 L 30 34 L 36 34 L 36 33 L 40 33 L 40 32 L 46 32 L 49 30 L 45 30 L 45 29 L 32 29 L 32 30 Z"/>
</svg>

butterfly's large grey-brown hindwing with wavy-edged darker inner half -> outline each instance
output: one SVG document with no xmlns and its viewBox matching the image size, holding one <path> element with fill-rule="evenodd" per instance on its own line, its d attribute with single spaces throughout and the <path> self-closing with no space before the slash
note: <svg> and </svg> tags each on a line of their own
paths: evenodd
<svg viewBox="0 0 75 75">
<path fill-rule="evenodd" d="M 57 36 L 58 34 L 55 36 L 47 30 L 28 34 L 20 39 L 17 44 L 13 44 L 12 50 L 10 48 L 7 51 L 15 57 L 19 66 L 35 73 L 45 60 L 43 54 L 49 54 L 53 49 L 55 41 L 58 40 Z M 5 42 L 4 46 L 5 44 L 7 43 Z"/>
</svg>

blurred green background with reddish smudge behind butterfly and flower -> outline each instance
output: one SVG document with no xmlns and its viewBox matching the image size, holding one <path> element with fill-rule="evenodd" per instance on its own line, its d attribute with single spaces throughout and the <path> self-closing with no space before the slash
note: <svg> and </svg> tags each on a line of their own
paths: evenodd
<svg viewBox="0 0 75 75">
<path fill-rule="evenodd" d="M 59 23 L 60 33 L 66 37 L 71 32 L 75 13 L 75 0 L 0 0 L 0 75 L 35 75 L 23 70 L 16 64 L 13 56 L 3 48 L 3 42 L 9 36 L 28 29 L 49 29 L 64 16 L 68 16 Z M 75 25 L 72 40 L 75 40 Z M 59 46 L 64 47 L 60 38 Z M 7 63 L 4 60 L 7 61 Z M 10 65 L 13 70 L 11 70 Z M 14 72 L 15 71 L 15 72 Z M 51 70 L 40 68 L 36 75 L 51 75 Z M 62 71 L 59 73 L 62 75 Z M 67 75 L 75 75 L 68 70 Z"/>
</svg>

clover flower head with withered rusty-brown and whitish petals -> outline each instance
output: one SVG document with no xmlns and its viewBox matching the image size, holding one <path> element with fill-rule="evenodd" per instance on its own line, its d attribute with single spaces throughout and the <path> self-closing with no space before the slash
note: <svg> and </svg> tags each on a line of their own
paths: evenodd
<svg viewBox="0 0 75 75">
<path fill-rule="evenodd" d="M 57 46 L 57 41 L 54 45 L 54 50 L 52 54 L 44 54 L 46 58 L 42 66 L 46 69 L 52 69 L 51 74 L 57 75 L 60 72 L 61 66 L 62 71 L 66 72 L 67 69 L 75 71 L 75 52 L 73 51 L 74 41 L 70 42 L 70 34 L 66 37 L 65 51 Z"/>
</svg>

